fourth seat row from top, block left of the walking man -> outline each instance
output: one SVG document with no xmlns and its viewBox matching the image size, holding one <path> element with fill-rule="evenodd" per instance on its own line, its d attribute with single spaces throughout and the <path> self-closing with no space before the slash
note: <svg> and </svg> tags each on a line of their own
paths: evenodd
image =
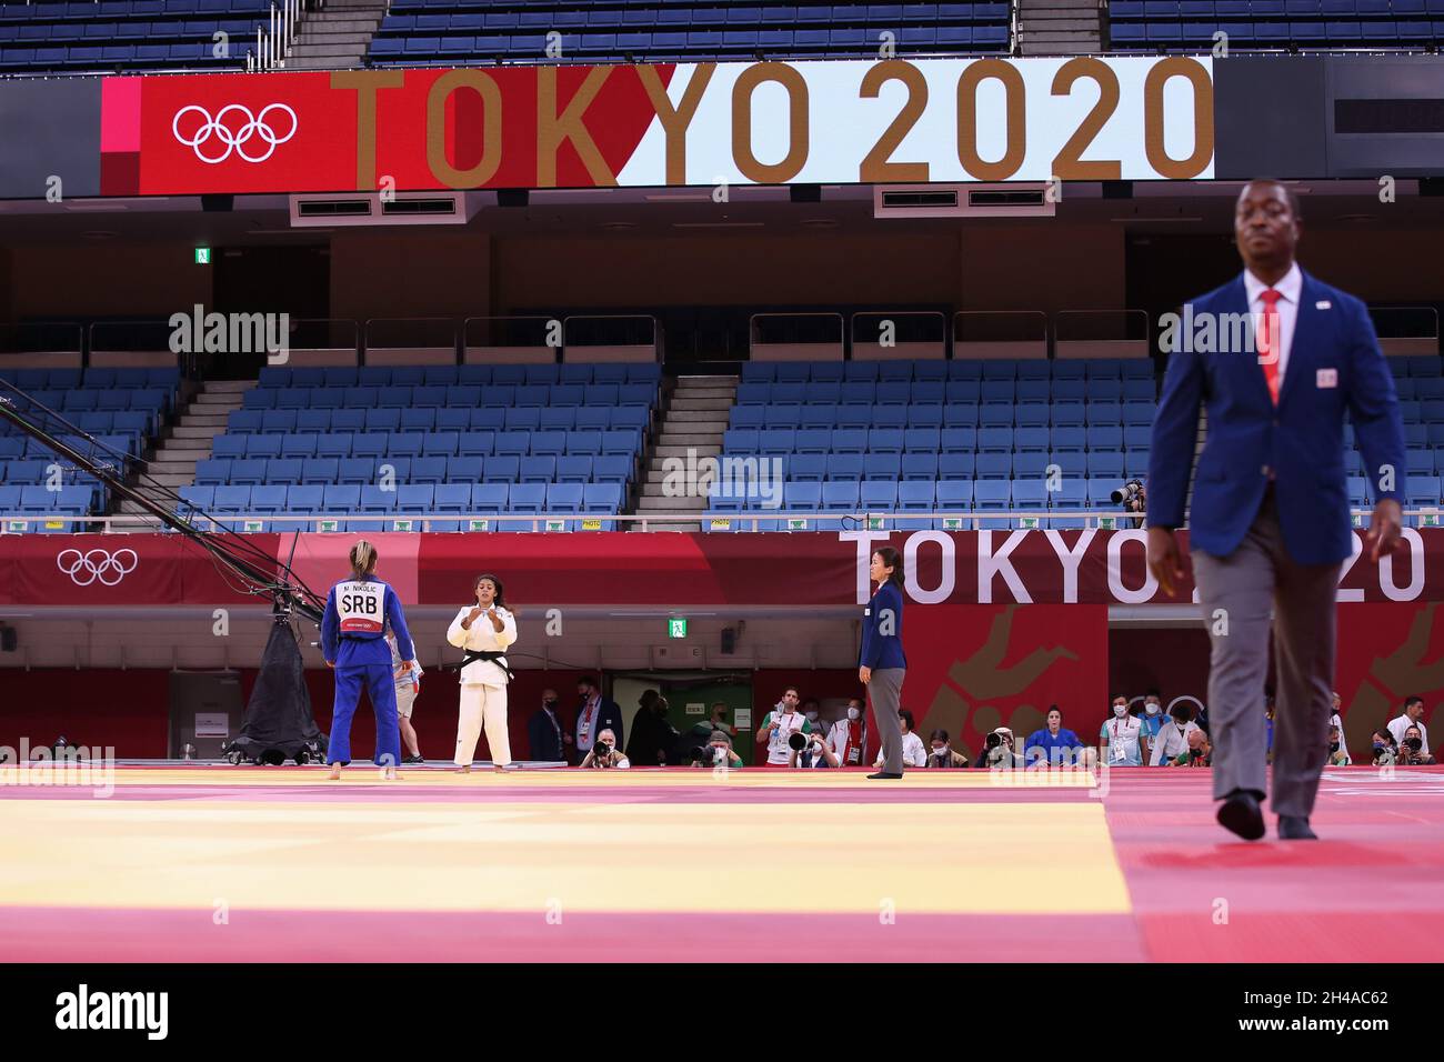
<svg viewBox="0 0 1444 1062">
<path fill-rule="evenodd" d="M 729 428 L 722 446 L 729 454 L 973 454 L 1069 451 L 1139 451 L 1152 429 L 1121 428 Z"/>
</svg>

